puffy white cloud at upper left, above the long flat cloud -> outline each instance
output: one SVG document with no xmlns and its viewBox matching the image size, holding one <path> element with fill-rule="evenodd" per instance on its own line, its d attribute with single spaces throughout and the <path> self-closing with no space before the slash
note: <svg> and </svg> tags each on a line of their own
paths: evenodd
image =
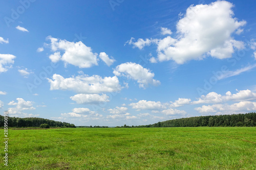
<svg viewBox="0 0 256 170">
<path fill-rule="evenodd" d="M 93 53 L 92 48 L 86 46 L 81 41 L 70 42 L 51 36 L 47 37 L 47 39 L 51 40 L 51 49 L 55 52 L 53 56 L 50 55 L 49 57 L 52 62 L 62 60 L 65 65 L 72 64 L 79 68 L 89 68 L 93 65 L 98 65 L 97 53 Z M 60 52 L 63 52 L 62 56 L 60 55 Z"/>
</svg>

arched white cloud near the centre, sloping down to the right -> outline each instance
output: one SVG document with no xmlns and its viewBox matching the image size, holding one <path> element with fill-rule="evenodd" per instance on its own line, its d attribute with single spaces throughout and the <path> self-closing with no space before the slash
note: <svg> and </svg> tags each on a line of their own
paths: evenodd
<svg viewBox="0 0 256 170">
<path fill-rule="evenodd" d="M 140 88 L 145 88 L 148 84 L 153 84 L 154 86 L 160 85 L 160 81 L 153 79 L 155 74 L 147 68 L 143 68 L 141 65 L 127 62 L 116 66 L 113 73 L 116 76 L 124 76 L 137 80 Z"/>
</svg>

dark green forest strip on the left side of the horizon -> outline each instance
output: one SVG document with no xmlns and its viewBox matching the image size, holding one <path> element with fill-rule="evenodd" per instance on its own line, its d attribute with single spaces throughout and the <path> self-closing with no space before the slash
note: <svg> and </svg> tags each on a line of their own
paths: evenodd
<svg viewBox="0 0 256 170">
<path fill-rule="evenodd" d="M 66 122 L 57 122 L 45 118 L 38 117 L 8 117 L 8 127 L 40 127 L 42 124 L 48 124 L 52 128 L 65 127 L 65 128 L 76 128 L 74 124 Z M 0 115 L 0 127 L 4 127 L 4 116 Z"/>
</svg>

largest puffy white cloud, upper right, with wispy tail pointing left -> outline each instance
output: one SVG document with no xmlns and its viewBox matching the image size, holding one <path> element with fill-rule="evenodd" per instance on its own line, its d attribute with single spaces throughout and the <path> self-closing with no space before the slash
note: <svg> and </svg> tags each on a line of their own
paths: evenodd
<svg viewBox="0 0 256 170">
<path fill-rule="evenodd" d="M 140 50 L 145 45 L 156 43 L 159 61 L 174 60 L 178 64 L 200 60 L 206 56 L 230 58 L 234 50 L 244 48 L 244 43 L 233 39 L 232 35 L 240 34 L 243 31 L 241 27 L 246 24 L 246 21 L 238 21 L 233 17 L 232 7 L 233 5 L 226 1 L 217 1 L 209 5 L 191 5 L 184 17 L 177 22 L 178 38 L 139 38 L 137 42 L 131 38 L 126 43 Z"/>
</svg>

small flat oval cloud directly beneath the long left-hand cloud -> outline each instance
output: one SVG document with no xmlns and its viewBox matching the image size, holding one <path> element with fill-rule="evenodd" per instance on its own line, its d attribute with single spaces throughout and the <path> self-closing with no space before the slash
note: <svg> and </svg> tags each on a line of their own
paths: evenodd
<svg viewBox="0 0 256 170">
<path fill-rule="evenodd" d="M 106 94 L 76 94 L 71 96 L 70 99 L 77 104 L 97 104 L 102 102 L 109 102 L 110 97 Z"/>
</svg>

